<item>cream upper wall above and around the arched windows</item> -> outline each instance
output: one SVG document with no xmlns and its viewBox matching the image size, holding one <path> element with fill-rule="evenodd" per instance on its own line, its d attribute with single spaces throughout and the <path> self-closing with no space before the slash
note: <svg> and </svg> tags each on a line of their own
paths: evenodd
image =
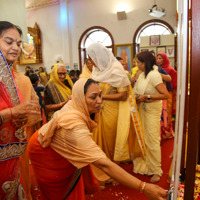
<svg viewBox="0 0 200 200">
<path fill-rule="evenodd" d="M 65 63 L 79 63 L 78 42 L 82 33 L 92 26 L 102 26 L 113 36 L 115 44 L 132 43 L 136 29 L 145 21 L 153 19 L 148 9 L 154 4 L 153 0 L 123 0 L 129 7 L 127 20 L 119 21 L 116 6 L 120 0 L 69 0 L 69 30 L 61 27 L 60 5 L 52 5 L 37 10 L 27 10 L 27 26 L 37 22 L 42 33 L 43 66 L 50 71 L 56 57 L 61 55 Z M 165 8 L 167 15 L 161 20 L 176 28 L 176 1 L 157 0 L 158 7 Z M 67 21 L 66 21 L 67 25 Z M 63 31 L 66 33 L 63 37 Z M 69 32 L 68 32 L 69 31 Z M 64 50 L 63 50 L 64 47 Z M 39 67 L 40 65 L 33 65 Z M 73 67 L 73 66 L 72 66 Z"/>
</svg>

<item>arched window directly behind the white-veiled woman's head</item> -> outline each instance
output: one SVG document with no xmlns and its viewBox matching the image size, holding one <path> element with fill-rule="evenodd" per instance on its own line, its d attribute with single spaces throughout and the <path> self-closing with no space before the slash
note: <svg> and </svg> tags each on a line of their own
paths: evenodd
<svg viewBox="0 0 200 200">
<path fill-rule="evenodd" d="M 111 33 L 103 27 L 91 27 L 87 29 L 79 40 L 79 62 L 80 70 L 84 66 L 87 59 L 86 48 L 94 42 L 100 42 L 105 47 L 114 52 L 114 42 Z"/>
</svg>

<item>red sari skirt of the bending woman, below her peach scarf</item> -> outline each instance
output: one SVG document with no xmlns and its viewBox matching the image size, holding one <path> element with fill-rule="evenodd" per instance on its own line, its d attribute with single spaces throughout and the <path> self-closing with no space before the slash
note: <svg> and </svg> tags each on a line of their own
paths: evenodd
<svg viewBox="0 0 200 200">
<path fill-rule="evenodd" d="M 29 141 L 28 151 L 41 190 L 40 199 L 63 199 L 73 179 L 76 167 L 51 147 L 42 148 L 38 142 L 38 131 Z M 88 193 L 97 190 L 98 183 L 90 172 L 89 166 L 85 167 L 67 200 L 85 200 L 84 185 L 88 186 L 90 184 L 93 187 Z M 84 178 L 85 175 L 87 176 L 86 179 Z"/>
</svg>

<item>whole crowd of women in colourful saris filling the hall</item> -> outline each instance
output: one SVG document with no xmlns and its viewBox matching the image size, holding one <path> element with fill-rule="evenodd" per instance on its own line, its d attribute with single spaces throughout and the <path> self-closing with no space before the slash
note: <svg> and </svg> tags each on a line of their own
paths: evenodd
<svg viewBox="0 0 200 200">
<path fill-rule="evenodd" d="M 22 75 L 21 35 L 0 21 L 0 199 L 32 199 L 31 176 L 40 199 L 85 199 L 113 181 L 166 199 L 154 183 L 163 173 L 161 138 L 174 137 L 177 73 L 167 55 L 140 52 L 128 72 L 123 59 L 93 43 L 81 74 L 56 63 L 50 75 L 29 66 Z M 132 163 L 151 183 L 118 163 Z"/>
</svg>

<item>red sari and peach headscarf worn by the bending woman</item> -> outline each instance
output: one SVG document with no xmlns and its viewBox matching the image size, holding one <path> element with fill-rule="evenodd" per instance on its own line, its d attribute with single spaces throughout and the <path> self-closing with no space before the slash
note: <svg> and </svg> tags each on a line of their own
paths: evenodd
<svg viewBox="0 0 200 200">
<path fill-rule="evenodd" d="M 90 118 L 84 98 L 86 81 L 82 78 L 74 84 L 72 100 L 29 141 L 28 152 L 42 199 L 63 199 L 75 170 L 81 168 L 82 175 L 67 199 L 85 199 L 85 188 L 88 193 L 97 190 L 88 167 L 106 155 L 92 138 L 97 121 Z"/>
</svg>

